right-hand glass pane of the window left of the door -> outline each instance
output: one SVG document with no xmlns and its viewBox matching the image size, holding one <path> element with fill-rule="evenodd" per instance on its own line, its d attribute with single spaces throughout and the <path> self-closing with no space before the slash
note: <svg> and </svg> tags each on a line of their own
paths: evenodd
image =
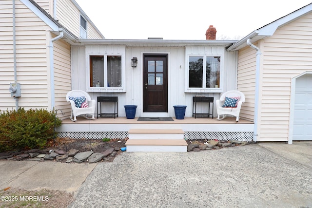
<svg viewBox="0 0 312 208">
<path fill-rule="evenodd" d="M 121 87 L 121 56 L 107 56 L 107 87 Z"/>
</svg>

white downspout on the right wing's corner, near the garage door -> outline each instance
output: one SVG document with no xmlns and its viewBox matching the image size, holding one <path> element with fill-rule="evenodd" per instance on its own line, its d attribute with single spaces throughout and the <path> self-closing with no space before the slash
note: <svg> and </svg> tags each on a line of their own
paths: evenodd
<svg viewBox="0 0 312 208">
<path fill-rule="evenodd" d="M 254 142 L 257 141 L 258 136 L 258 108 L 259 108 L 259 79 L 260 79 L 260 49 L 251 43 L 250 38 L 247 39 L 247 45 L 255 49 L 256 62 L 255 62 L 255 92 L 254 92 Z"/>
</svg>

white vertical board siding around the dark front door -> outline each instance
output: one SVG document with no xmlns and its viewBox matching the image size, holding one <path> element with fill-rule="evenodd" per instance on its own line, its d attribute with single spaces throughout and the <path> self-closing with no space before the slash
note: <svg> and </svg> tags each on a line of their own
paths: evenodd
<svg viewBox="0 0 312 208">
<path fill-rule="evenodd" d="M 72 46 L 72 77 L 73 77 L 73 89 L 86 90 L 88 88 L 89 80 L 86 73 L 89 73 L 89 65 L 86 63 L 88 55 L 93 54 L 121 54 L 125 55 L 125 86 L 126 92 L 120 93 L 105 93 L 88 90 L 89 95 L 93 99 L 97 99 L 97 96 L 118 96 L 118 115 L 125 116 L 124 105 L 137 105 L 137 116 L 144 116 L 142 103 L 143 103 L 143 54 L 168 54 L 168 115 L 175 116 L 174 105 L 187 105 L 186 114 L 187 117 L 192 117 L 193 110 L 193 96 L 204 95 L 214 96 L 215 99 L 219 99 L 220 93 L 186 93 L 185 85 L 188 83 L 185 80 L 185 73 L 188 68 L 186 65 L 186 48 L 185 47 L 130 47 L 118 45 L 86 45 L 84 46 Z M 223 69 L 224 70 L 224 90 L 233 90 L 236 87 L 236 52 L 226 52 L 224 47 L 193 47 L 193 54 L 203 53 L 205 54 L 222 54 L 224 58 Z M 217 50 L 219 52 L 217 52 Z M 124 52 L 125 51 L 125 52 Z M 195 52 L 196 51 L 196 52 Z M 206 52 L 205 52 L 206 51 Z M 125 54 L 124 54 L 125 53 Z M 137 57 L 137 68 L 131 67 L 131 59 Z M 226 76 L 228 75 L 228 76 Z M 106 109 L 108 112 L 112 112 L 113 106 Z M 198 104 L 198 112 L 207 112 L 207 105 Z M 216 110 L 215 116 L 216 116 Z M 159 114 L 159 113 L 158 113 Z"/>
</svg>

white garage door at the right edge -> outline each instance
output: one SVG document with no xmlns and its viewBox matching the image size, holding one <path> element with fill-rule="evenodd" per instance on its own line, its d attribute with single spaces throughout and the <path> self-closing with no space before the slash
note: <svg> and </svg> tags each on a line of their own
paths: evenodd
<svg viewBox="0 0 312 208">
<path fill-rule="evenodd" d="M 312 140 L 312 76 L 296 79 L 292 140 Z"/>
</svg>

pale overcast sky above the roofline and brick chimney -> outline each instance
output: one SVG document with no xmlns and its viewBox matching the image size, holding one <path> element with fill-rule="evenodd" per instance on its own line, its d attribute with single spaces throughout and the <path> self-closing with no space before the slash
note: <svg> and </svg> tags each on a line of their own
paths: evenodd
<svg viewBox="0 0 312 208">
<path fill-rule="evenodd" d="M 106 39 L 241 39 L 311 0 L 76 0 Z"/>
</svg>

